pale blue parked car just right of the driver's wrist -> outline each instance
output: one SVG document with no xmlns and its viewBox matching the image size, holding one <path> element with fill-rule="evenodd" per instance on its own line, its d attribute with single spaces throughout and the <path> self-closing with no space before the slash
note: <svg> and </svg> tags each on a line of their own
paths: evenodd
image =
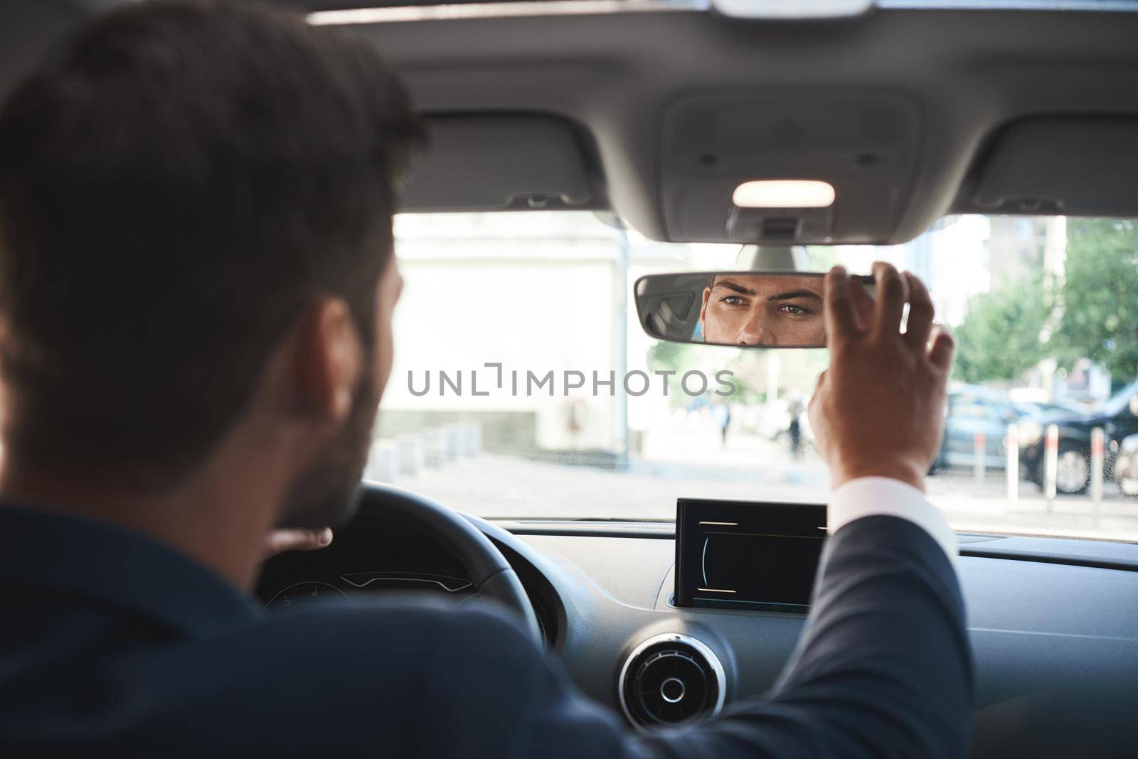
<svg viewBox="0 0 1138 759">
<path fill-rule="evenodd" d="M 1007 393 L 982 385 L 953 384 L 945 408 L 945 437 L 934 469 L 975 465 L 976 435 L 984 436 L 984 466 L 1007 466 L 1005 437 L 1008 425 L 1016 423 L 1028 435 L 1034 434 L 1039 414 L 1016 403 Z M 1022 436 L 1021 436 L 1022 440 Z"/>
</svg>

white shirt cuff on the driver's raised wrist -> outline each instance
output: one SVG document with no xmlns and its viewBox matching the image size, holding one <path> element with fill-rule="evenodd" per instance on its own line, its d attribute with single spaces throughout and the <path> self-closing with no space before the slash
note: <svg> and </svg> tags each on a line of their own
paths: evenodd
<svg viewBox="0 0 1138 759">
<path fill-rule="evenodd" d="M 945 549 L 956 568 L 956 533 L 945 522 L 940 509 L 913 485 L 889 477 L 859 477 L 844 483 L 830 497 L 827 528 L 831 535 L 842 525 L 873 516 L 900 517 L 923 528 Z"/>
</svg>

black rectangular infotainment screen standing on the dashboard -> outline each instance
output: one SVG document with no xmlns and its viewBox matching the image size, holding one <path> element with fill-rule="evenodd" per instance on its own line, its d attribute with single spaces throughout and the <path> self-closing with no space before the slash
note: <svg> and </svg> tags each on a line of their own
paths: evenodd
<svg viewBox="0 0 1138 759">
<path fill-rule="evenodd" d="M 822 504 L 682 498 L 675 604 L 805 612 L 825 537 Z"/>
</svg>

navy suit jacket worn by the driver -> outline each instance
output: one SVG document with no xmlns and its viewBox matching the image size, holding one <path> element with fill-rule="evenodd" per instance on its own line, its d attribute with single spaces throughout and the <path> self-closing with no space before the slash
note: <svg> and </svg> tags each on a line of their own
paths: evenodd
<svg viewBox="0 0 1138 759">
<path fill-rule="evenodd" d="M 0 507 L 0 756 L 959 757 L 964 606 L 896 517 L 827 542 L 775 691 L 644 737 L 504 615 L 410 602 L 264 618 L 140 535 Z"/>
</svg>

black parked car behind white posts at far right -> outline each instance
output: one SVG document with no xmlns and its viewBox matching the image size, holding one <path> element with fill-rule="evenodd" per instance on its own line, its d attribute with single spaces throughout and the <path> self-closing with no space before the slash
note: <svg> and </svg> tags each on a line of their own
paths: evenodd
<svg viewBox="0 0 1138 759">
<path fill-rule="evenodd" d="M 1055 490 L 1059 493 L 1083 493 L 1090 485 L 1090 435 L 1102 427 L 1104 433 L 1103 478 L 1115 476 L 1115 462 L 1123 439 L 1138 434 L 1138 380 L 1130 383 L 1094 411 L 1086 415 L 1045 415 L 1038 419 L 1042 429 L 1039 439 L 1026 444 L 1021 464 L 1028 479 L 1042 486 L 1045 469 L 1046 428 L 1058 426 L 1058 461 L 1055 469 Z M 1021 439 L 1021 443 L 1023 443 Z"/>
</svg>

